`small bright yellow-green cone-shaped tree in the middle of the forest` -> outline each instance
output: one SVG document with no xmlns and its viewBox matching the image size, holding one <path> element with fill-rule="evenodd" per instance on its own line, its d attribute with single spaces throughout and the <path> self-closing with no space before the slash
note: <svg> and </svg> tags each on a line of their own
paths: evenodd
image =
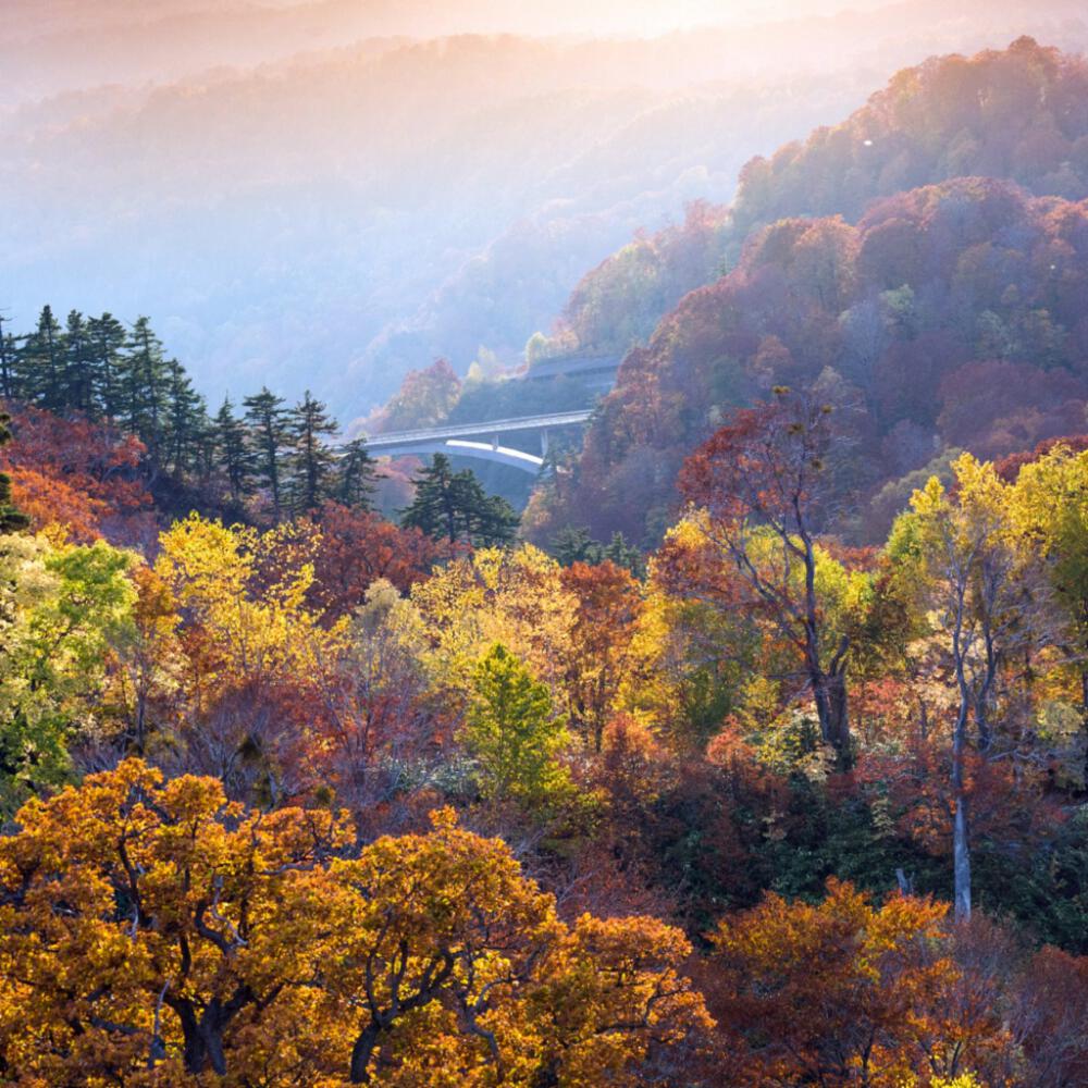
<svg viewBox="0 0 1088 1088">
<path fill-rule="evenodd" d="M 478 664 L 461 742 L 475 759 L 489 799 L 541 808 L 571 788 L 558 756 L 570 742 L 547 685 L 502 643 Z"/>
</svg>

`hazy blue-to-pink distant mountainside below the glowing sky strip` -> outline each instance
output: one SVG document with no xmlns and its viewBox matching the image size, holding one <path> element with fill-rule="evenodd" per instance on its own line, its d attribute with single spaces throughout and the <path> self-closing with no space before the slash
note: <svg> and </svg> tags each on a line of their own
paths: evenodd
<svg viewBox="0 0 1088 1088">
<path fill-rule="evenodd" d="M 728 198 L 759 128 L 777 143 L 861 97 L 840 79 L 688 99 L 726 71 L 694 40 L 462 37 L 26 106 L 0 116 L 3 305 L 20 325 L 47 299 L 152 313 L 211 399 L 227 370 L 231 392 L 297 395 L 305 364 L 361 413 L 436 354 L 512 359 L 639 225 Z M 677 148 L 708 113 L 734 139 Z M 655 153 L 602 175 L 635 136 Z"/>
</svg>

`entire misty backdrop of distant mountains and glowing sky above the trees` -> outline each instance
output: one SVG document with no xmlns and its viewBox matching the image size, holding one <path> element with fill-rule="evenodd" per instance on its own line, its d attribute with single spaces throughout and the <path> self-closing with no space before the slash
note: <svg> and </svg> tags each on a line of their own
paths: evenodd
<svg viewBox="0 0 1088 1088">
<path fill-rule="evenodd" d="M 0 307 L 148 313 L 212 400 L 347 418 L 436 356 L 516 361 L 634 231 L 895 69 L 1088 41 L 1066 0 L 837 7 L 16 0 Z"/>
</svg>

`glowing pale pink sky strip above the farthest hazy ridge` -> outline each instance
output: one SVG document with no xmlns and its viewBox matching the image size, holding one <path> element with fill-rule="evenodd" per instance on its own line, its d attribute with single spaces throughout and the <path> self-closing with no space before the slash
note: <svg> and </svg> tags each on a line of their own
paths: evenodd
<svg viewBox="0 0 1088 1088">
<path fill-rule="evenodd" d="M 877 8 L 861 0 L 854 10 Z M 834 10 L 828 0 L 10 0 L 0 102 L 88 84 L 163 83 L 362 38 L 460 34 L 654 35 Z"/>
</svg>

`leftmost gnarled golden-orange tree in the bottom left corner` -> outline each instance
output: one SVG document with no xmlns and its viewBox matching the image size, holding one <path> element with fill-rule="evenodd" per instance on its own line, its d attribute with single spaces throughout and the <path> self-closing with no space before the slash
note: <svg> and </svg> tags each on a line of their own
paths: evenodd
<svg viewBox="0 0 1088 1088">
<path fill-rule="evenodd" d="M 231 1055 L 228 1083 L 246 1083 L 263 1033 L 320 1018 L 317 863 L 345 834 L 335 817 L 245 813 L 215 779 L 163 782 L 128 761 L 30 802 L 18 824 L 0 840 L 10 1080 L 195 1084 L 225 1076 Z M 307 1066 L 312 1040 L 297 1035 L 276 1040 L 284 1070 Z"/>
</svg>

